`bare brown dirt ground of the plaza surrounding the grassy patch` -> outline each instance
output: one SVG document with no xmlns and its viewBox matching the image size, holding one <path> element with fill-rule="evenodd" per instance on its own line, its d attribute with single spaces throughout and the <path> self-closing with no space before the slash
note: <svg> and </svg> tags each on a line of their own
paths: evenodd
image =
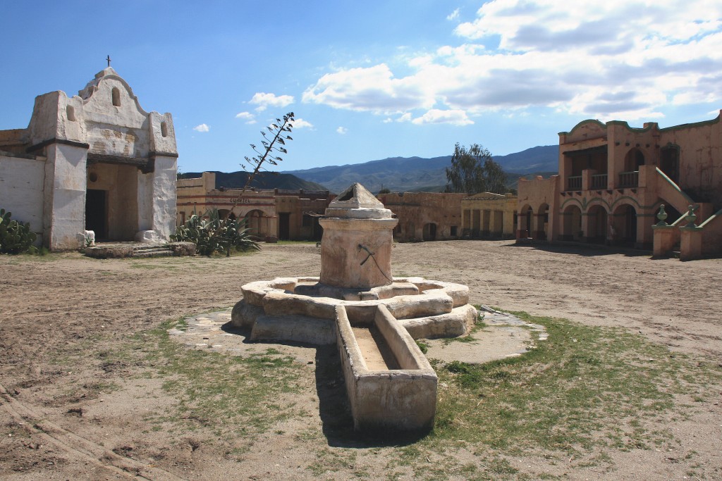
<svg viewBox="0 0 722 481">
<path fill-rule="evenodd" d="M 466 284 L 472 304 L 625 327 L 670 350 L 722 363 L 722 260 L 651 260 L 635 252 L 508 241 L 397 244 L 392 256 L 394 275 Z M 264 244 L 261 252 L 230 259 L 1 256 L 0 478 L 347 479 L 360 472 L 366 475 L 356 476 L 368 479 L 412 479 L 409 472 L 384 471 L 383 446 L 358 447 L 347 469 L 322 476 L 311 469 L 320 452 L 336 461 L 348 453 L 348 446 L 323 436 L 318 363 L 301 368 L 308 379 L 300 381 L 305 394 L 294 409 L 305 413 L 303 419 L 284 420 L 231 459 L 228 441 L 211 433 L 178 436 L 148 428 L 144 413 L 176 402 L 163 389 L 164 379 L 136 375 L 148 366 L 87 361 L 167 319 L 230 307 L 244 283 L 318 275 L 320 267 L 313 244 Z M 69 352 L 81 361 L 58 360 Z M 104 385 L 116 388 L 105 392 Z M 614 454 L 614 468 L 605 473 L 575 467 L 556 475 L 722 479 L 720 394 L 671 425 L 679 452 L 694 451 L 696 472 L 703 475 L 688 475 L 690 466 L 679 456 L 643 449 Z M 305 440 L 302 431 L 316 432 L 315 441 Z M 543 461 L 532 457 L 518 463 L 529 462 L 531 469 Z"/>
</svg>

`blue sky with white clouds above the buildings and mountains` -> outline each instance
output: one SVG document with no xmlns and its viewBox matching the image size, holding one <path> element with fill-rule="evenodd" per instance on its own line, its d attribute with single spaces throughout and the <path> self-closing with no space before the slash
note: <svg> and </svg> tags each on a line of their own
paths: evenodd
<svg viewBox="0 0 722 481">
<path fill-rule="evenodd" d="M 504 155 L 580 120 L 661 127 L 722 108 L 718 0 L 3 1 L 0 129 L 105 56 L 171 112 L 182 172 L 239 170 L 293 111 L 279 170 Z"/>
</svg>

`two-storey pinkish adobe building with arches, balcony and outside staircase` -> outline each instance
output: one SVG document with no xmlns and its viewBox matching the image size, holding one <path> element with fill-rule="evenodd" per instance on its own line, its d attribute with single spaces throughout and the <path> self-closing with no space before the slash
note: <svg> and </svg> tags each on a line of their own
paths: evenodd
<svg viewBox="0 0 722 481">
<path fill-rule="evenodd" d="M 671 240 L 661 250 L 669 252 L 688 229 L 697 255 L 722 253 L 719 115 L 668 128 L 584 120 L 559 138 L 559 175 L 519 180 L 518 238 L 651 250 L 662 235 L 653 224 L 664 204 Z M 696 219 L 687 228 L 689 206 Z M 656 247 L 655 253 L 661 254 Z"/>
</svg>

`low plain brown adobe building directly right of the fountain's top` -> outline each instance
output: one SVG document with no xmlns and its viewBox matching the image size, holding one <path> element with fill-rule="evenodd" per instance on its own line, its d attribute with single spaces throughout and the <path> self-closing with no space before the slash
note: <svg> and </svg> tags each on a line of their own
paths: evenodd
<svg viewBox="0 0 722 481">
<path fill-rule="evenodd" d="M 399 242 L 461 239 L 461 200 L 467 194 L 401 192 L 378 195 L 399 219 L 393 239 Z"/>
</svg>

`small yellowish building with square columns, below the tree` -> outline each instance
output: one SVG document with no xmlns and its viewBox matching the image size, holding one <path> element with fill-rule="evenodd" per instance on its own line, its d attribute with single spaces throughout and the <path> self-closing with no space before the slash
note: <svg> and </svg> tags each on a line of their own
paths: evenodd
<svg viewBox="0 0 722 481">
<path fill-rule="evenodd" d="M 461 234 L 466 238 L 513 239 L 516 204 L 513 193 L 482 192 L 461 199 Z"/>
</svg>

